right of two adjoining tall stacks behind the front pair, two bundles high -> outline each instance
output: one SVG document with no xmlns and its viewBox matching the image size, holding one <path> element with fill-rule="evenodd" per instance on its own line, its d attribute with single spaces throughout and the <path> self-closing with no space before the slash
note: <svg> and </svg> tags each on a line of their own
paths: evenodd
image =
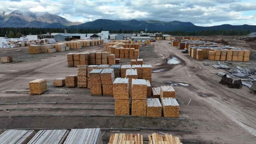
<svg viewBox="0 0 256 144">
<path fill-rule="evenodd" d="M 113 96 L 113 82 L 115 74 L 113 68 L 102 69 L 100 73 L 103 96 Z"/>
</svg>

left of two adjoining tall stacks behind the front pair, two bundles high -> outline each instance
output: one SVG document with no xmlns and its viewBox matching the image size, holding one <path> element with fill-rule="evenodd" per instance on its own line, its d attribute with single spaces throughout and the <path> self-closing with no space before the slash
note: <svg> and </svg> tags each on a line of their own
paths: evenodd
<svg viewBox="0 0 256 144">
<path fill-rule="evenodd" d="M 102 96 L 101 73 L 102 69 L 93 69 L 90 73 L 91 96 Z"/>
</svg>

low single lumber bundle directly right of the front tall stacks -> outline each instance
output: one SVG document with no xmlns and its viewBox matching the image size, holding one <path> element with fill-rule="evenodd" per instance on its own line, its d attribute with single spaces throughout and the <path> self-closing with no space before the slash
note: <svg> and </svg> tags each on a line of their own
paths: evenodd
<svg viewBox="0 0 256 144">
<path fill-rule="evenodd" d="M 147 98 L 147 117 L 161 117 L 162 105 L 158 98 Z"/>
</svg>

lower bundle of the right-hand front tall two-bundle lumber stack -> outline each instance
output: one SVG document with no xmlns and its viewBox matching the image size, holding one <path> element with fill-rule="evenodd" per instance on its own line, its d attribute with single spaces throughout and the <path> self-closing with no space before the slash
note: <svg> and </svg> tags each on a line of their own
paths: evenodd
<svg viewBox="0 0 256 144">
<path fill-rule="evenodd" d="M 132 116 L 146 116 L 147 100 L 132 100 Z"/>
</svg>

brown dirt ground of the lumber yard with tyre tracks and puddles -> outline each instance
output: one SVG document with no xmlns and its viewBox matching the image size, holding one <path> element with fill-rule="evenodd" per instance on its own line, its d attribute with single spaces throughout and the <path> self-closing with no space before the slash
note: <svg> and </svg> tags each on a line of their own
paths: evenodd
<svg viewBox="0 0 256 144">
<path fill-rule="evenodd" d="M 96 49 L 102 50 L 103 45 L 91 46 L 79 51 L 90 52 Z M 176 57 L 180 63 L 167 64 L 167 61 L 173 57 Z M 67 67 L 66 55 L 62 54 L 42 60 L 0 64 L 0 103 L 13 103 L 0 104 L 0 129 L 149 127 L 191 130 L 191 133 L 162 131 L 179 136 L 183 141 L 255 144 L 256 96 L 244 86 L 242 89 L 230 89 L 219 84 L 221 78 L 216 73 L 224 72 L 224 70 L 203 65 L 203 63 L 216 63 L 215 61 L 197 61 L 189 57 L 188 54 L 182 54 L 181 50 L 171 46 L 167 40 L 155 42 L 154 47 L 141 47 L 140 58 L 143 58 L 145 64 L 151 64 L 155 71 L 152 73 L 153 86 L 174 85 L 180 105 L 180 118 L 184 120 L 83 116 L 114 115 L 114 99 L 113 97 L 92 97 L 90 90 L 86 88 L 68 88 L 74 93 L 65 94 L 61 91 L 61 89 L 66 89 L 65 87 L 53 87 L 53 79 L 77 74 L 77 68 Z M 129 63 L 129 60 L 123 60 L 122 63 Z M 236 65 L 256 68 L 254 61 L 234 62 L 233 66 Z M 29 91 L 28 82 L 38 78 L 47 80 L 49 92 L 41 95 L 6 92 Z M 51 91 L 56 92 L 57 90 L 63 93 L 51 93 Z M 191 102 L 186 107 L 190 99 Z M 57 102 L 57 104 L 16 104 L 17 102 Z M 76 104 L 74 102 L 106 102 L 108 104 Z M 22 116 L 17 117 L 16 115 Z M 147 138 L 147 134 L 159 131 L 120 132 L 141 133 Z M 108 139 L 111 133 L 114 132 L 104 131 L 103 138 Z"/>
</svg>

